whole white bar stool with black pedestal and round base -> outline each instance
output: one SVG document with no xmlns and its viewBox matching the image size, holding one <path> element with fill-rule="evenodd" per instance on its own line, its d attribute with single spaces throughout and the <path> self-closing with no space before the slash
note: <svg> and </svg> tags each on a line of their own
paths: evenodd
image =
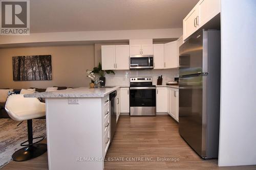
<svg viewBox="0 0 256 170">
<path fill-rule="evenodd" d="M 45 103 L 39 102 L 36 98 L 24 98 L 24 94 L 10 95 L 6 101 L 5 109 L 9 116 L 16 121 L 27 120 L 28 124 L 28 140 L 21 143 L 26 146 L 19 149 L 12 155 L 15 161 L 25 161 L 36 158 L 47 151 L 47 144 L 39 143 L 45 137 L 40 136 L 33 138 L 32 119 L 45 116 Z M 33 139 L 41 138 L 33 143 Z M 24 144 L 28 142 L 28 144 Z"/>
</svg>

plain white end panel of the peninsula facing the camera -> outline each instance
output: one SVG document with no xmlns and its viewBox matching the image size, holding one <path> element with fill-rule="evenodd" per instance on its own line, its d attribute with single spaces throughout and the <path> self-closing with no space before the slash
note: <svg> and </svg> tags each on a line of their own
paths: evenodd
<svg viewBox="0 0 256 170">
<path fill-rule="evenodd" d="M 46 99 L 49 169 L 103 169 L 101 98 Z M 89 158 L 88 160 L 86 160 Z"/>
</svg>

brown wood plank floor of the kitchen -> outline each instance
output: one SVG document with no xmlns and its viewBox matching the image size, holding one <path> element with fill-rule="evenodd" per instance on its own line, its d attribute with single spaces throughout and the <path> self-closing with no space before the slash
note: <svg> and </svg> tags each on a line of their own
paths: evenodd
<svg viewBox="0 0 256 170">
<path fill-rule="evenodd" d="M 158 161 L 158 157 L 170 160 Z M 201 159 L 180 137 L 178 123 L 168 115 L 120 116 L 105 159 L 105 169 L 256 169 L 256 166 L 218 167 L 217 159 Z M 12 161 L 3 167 L 7 169 L 48 169 L 47 153 L 25 162 Z"/>
</svg>

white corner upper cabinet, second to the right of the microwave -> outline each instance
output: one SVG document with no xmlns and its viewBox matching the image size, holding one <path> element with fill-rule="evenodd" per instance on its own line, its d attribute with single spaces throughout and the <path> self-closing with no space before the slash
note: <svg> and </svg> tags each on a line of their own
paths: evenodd
<svg viewBox="0 0 256 170">
<path fill-rule="evenodd" d="M 178 41 L 164 44 L 164 68 L 177 68 L 178 58 Z"/>
</svg>

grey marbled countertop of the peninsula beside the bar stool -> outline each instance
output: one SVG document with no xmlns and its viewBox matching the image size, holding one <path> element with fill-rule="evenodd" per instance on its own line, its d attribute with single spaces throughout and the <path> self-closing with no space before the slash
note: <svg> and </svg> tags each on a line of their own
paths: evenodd
<svg viewBox="0 0 256 170">
<path fill-rule="evenodd" d="M 25 98 L 102 98 L 107 94 L 117 90 L 120 86 L 113 88 L 89 88 L 79 87 L 74 89 L 56 90 L 49 92 L 40 92 L 24 94 Z"/>
</svg>

